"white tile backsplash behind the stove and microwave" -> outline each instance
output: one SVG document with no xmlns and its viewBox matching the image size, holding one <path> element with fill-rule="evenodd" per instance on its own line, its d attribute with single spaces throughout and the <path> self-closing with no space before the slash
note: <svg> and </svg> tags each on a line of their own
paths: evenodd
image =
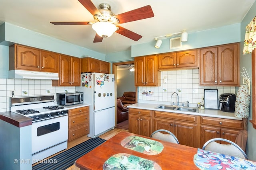
<svg viewBox="0 0 256 170">
<path fill-rule="evenodd" d="M 32 79 L 6 79 L 0 78 L 0 112 L 10 111 L 10 97 L 54 95 L 59 92 L 75 92 L 74 86 L 52 86 L 51 80 L 32 80 Z"/>
</svg>

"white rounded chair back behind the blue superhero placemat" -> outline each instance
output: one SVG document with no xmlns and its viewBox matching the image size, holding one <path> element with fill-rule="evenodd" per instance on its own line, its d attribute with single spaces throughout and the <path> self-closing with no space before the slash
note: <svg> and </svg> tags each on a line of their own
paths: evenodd
<svg viewBox="0 0 256 170">
<path fill-rule="evenodd" d="M 215 141 L 225 141 L 230 144 L 220 144 Z M 207 141 L 202 147 L 204 150 L 209 150 L 212 152 L 217 152 L 220 154 L 226 154 L 230 156 L 235 156 L 242 159 L 248 159 L 244 150 L 242 150 L 236 143 L 222 138 L 214 138 Z"/>
</svg>

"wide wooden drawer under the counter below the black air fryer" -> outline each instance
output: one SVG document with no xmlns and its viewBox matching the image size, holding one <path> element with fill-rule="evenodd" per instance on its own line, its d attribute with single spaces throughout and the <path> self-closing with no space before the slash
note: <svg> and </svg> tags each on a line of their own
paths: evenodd
<svg viewBox="0 0 256 170">
<path fill-rule="evenodd" d="M 202 125 L 214 125 L 218 127 L 243 129 L 242 120 L 232 120 L 232 119 L 222 119 L 222 118 L 201 116 L 200 122 Z"/>
</svg>

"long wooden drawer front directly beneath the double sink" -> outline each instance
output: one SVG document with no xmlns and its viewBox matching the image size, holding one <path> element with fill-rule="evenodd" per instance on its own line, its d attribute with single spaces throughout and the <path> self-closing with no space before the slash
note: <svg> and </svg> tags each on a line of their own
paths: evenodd
<svg viewBox="0 0 256 170">
<path fill-rule="evenodd" d="M 182 121 L 191 121 L 191 122 L 197 122 L 196 115 L 186 115 L 186 114 L 180 114 L 180 113 L 170 113 L 170 112 L 164 112 L 164 111 L 155 111 L 155 117 L 161 117 L 161 118 L 169 118 L 169 119 L 178 119 Z"/>
</svg>

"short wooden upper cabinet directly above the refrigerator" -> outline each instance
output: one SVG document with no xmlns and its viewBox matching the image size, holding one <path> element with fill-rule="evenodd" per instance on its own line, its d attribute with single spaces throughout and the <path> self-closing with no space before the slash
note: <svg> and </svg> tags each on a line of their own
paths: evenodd
<svg viewBox="0 0 256 170">
<path fill-rule="evenodd" d="M 81 72 L 100 72 L 108 74 L 110 71 L 110 63 L 85 57 L 81 59 Z"/>
</svg>

